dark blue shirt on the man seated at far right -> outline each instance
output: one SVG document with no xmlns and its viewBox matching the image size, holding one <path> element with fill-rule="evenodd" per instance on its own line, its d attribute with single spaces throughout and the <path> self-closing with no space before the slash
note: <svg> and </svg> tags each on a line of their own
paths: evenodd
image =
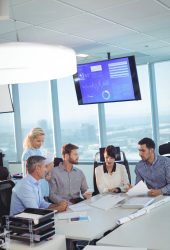
<svg viewBox="0 0 170 250">
<path fill-rule="evenodd" d="M 136 183 L 143 180 L 149 189 L 161 189 L 170 194 L 170 158 L 157 155 L 152 165 L 140 161 L 135 168 Z"/>
</svg>

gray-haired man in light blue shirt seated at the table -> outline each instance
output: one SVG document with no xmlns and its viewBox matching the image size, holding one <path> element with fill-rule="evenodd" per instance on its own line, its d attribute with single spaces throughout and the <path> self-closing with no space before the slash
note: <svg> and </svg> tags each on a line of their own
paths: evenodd
<svg viewBox="0 0 170 250">
<path fill-rule="evenodd" d="M 46 175 L 46 158 L 31 156 L 27 160 L 28 175 L 24 177 L 12 190 L 10 215 L 15 215 L 26 208 L 48 208 L 59 212 L 65 211 L 67 203 L 61 201 L 51 204 L 44 200 L 39 180 Z"/>
</svg>

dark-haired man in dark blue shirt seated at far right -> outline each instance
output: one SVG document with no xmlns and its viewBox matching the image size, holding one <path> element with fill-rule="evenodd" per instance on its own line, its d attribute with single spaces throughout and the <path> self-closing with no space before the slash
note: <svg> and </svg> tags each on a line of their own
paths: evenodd
<svg viewBox="0 0 170 250">
<path fill-rule="evenodd" d="M 138 142 L 139 161 L 135 168 L 136 183 L 144 181 L 150 189 L 148 195 L 170 195 L 170 158 L 155 153 L 155 143 L 150 138 Z"/>
</svg>

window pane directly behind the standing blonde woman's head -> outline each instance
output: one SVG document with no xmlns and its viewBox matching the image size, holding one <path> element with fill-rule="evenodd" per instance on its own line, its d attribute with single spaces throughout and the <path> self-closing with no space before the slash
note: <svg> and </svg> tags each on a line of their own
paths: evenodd
<svg viewBox="0 0 170 250">
<path fill-rule="evenodd" d="M 49 82 L 19 84 L 23 139 L 34 127 L 45 131 L 44 147 L 54 152 L 51 93 Z"/>
</svg>

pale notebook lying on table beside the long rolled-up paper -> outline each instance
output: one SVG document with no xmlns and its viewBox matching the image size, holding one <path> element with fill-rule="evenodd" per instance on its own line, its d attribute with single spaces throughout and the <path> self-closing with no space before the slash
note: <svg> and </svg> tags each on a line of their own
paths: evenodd
<svg viewBox="0 0 170 250">
<path fill-rule="evenodd" d="M 123 208 L 144 208 L 154 202 L 152 197 L 132 197 L 122 204 Z"/>
</svg>

